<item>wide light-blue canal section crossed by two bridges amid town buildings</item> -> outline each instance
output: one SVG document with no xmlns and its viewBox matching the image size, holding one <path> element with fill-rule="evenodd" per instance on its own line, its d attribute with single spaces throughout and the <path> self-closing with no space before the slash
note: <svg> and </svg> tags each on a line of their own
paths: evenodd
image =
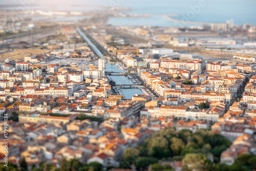
<svg viewBox="0 0 256 171">
<path fill-rule="evenodd" d="M 126 73 L 126 70 L 119 69 L 115 64 L 105 63 L 105 71 L 109 72 L 119 72 L 119 73 Z M 127 76 L 123 75 L 110 75 L 113 81 L 116 84 L 134 84 L 133 81 L 128 78 Z M 135 94 L 143 94 L 140 89 L 120 89 L 125 96 L 125 99 L 132 99 Z"/>
</svg>

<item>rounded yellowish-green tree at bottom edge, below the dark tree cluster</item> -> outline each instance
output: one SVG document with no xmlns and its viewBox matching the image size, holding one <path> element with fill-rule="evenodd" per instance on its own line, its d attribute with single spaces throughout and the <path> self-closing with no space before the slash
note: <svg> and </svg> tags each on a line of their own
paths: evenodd
<svg viewBox="0 0 256 171">
<path fill-rule="evenodd" d="M 182 159 L 184 169 L 188 170 L 204 170 L 209 166 L 209 160 L 204 154 L 186 154 Z"/>
</svg>

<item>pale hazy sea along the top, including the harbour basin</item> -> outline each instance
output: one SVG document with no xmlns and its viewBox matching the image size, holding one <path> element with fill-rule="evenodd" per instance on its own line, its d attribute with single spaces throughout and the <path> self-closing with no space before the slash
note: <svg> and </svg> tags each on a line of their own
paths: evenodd
<svg viewBox="0 0 256 171">
<path fill-rule="evenodd" d="M 177 23 L 165 18 L 164 14 L 179 14 L 172 17 L 190 22 L 224 23 L 232 19 L 234 24 L 256 25 L 255 0 L 0 0 L 0 10 L 17 8 L 17 5 L 26 9 L 61 11 L 95 11 L 126 7 L 131 9 L 127 13 L 151 15 L 110 18 L 109 24 L 114 26 L 177 26 Z"/>
</svg>

